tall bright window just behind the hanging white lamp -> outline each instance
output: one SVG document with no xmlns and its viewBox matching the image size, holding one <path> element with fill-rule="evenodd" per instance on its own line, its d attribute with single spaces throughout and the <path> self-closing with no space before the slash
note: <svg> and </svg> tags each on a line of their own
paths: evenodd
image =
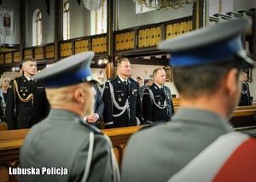
<svg viewBox="0 0 256 182">
<path fill-rule="evenodd" d="M 97 11 L 91 11 L 91 34 L 107 32 L 107 0 L 102 0 L 102 7 Z"/>
</svg>

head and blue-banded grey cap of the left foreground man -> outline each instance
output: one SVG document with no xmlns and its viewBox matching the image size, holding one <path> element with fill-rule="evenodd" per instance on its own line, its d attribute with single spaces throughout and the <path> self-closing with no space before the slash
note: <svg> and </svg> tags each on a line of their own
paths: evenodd
<svg viewBox="0 0 256 182">
<path fill-rule="evenodd" d="M 96 79 L 91 74 L 91 51 L 74 54 L 44 68 L 34 78 L 44 80 L 47 99 L 52 108 L 67 109 L 81 117 L 90 115 L 94 105 Z"/>
</svg>

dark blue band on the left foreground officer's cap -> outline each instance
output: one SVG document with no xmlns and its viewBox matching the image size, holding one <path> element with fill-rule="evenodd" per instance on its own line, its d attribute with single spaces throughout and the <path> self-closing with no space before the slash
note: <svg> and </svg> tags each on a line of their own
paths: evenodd
<svg viewBox="0 0 256 182">
<path fill-rule="evenodd" d="M 46 79 L 44 81 L 44 86 L 46 88 L 57 88 L 73 85 L 79 82 L 84 82 L 86 80 L 86 77 L 89 77 L 90 75 L 90 66 L 87 66 L 79 71 L 63 74 L 60 77 L 53 77 L 49 80 Z"/>
</svg>

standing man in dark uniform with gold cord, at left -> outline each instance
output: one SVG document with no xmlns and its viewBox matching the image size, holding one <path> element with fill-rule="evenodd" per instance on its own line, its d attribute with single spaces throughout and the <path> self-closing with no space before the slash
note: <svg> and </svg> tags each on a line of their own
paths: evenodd
<svg viewBox="0 0 256 182">
<path fill-rule="evenodd" d="M 37 62 L 26 58 L 22 62 L 23 75 L 9 83 L 5 115 L 8 129 L 31 128 L 49 113 L 44 82 L 33 79 Z"/>
</svg>

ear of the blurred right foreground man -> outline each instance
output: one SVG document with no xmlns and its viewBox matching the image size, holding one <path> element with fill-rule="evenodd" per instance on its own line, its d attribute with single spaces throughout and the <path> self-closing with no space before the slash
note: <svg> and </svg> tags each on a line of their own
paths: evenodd
<svg viewBox="0 0 256 182">
<path fill-rule="evenodd" d="M 238 70 L 232 68 L 226 77 L 225 83 L 229 94 L 236 94 L 237 89 L 239 89 L 239 84 L 237 84 L 238 74 Z"/>
</svg>

